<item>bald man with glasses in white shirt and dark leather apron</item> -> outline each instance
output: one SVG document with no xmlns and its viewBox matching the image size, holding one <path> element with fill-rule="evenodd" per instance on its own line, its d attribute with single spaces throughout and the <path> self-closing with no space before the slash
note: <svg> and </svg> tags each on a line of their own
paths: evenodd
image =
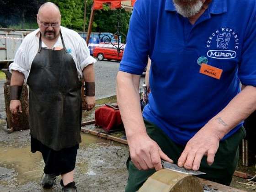
<svg viewBox="0 0 256 192">
<path fill-rule="evenodd" d="M 87 110 L 95 106 L 95 74 L 89 49 L 77 32 L 60 26 L 59 8 L 43 4 L 39 29 L 25 37 L 9 70 L 13 114 L 22 112 L 19 97 L 29 85 L 31 151 L 45 162 L 45 188 L 61 175 L 63 191 L 75 191 L 74 168 L 81 142 L 81 79 L 85 80 Z"/>
</svg>

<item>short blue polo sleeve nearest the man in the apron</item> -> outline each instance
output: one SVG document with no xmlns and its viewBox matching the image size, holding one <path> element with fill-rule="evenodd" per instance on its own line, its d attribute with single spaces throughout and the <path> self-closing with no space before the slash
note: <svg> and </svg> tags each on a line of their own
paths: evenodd
<svg viewBox="0 0 256 192">
<path fill-rule="evenodd" d="M 141 75 L 148 62 L 149 55 L 149 23 L 146 19 L 145 1 L 137 0 L 131 16 L 127 43 L 120 71 Z"/>
</svg>

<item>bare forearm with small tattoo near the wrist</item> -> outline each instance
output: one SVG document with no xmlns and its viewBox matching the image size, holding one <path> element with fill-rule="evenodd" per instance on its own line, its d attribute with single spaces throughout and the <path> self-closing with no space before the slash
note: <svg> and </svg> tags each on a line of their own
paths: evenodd
<svg viewBox="0 0 256 192">
<path fill-rule="evenodd" d="M 229 104 L 213 117 L 205 126 L 216 129 L 219 139 L 222 139 L 231 129 L 245 120 L 256 110 L 256 87 L 245 86 Z"/>
</svg>

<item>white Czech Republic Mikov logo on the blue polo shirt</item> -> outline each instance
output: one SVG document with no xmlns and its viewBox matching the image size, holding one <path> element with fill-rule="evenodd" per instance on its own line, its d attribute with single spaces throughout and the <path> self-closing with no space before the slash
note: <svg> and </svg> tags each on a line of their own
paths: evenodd
<svg viewBox="0 0 256 192">
<path fill-rule="evenodd" d="M 207 56 L 214 59 L 233 59 L 236 57 L 234 50 L 238 49 L 239 45 L 236 32 L 229 27 L 223 27 L 209 37 L 206 47 L 212 48 L 212 50 L 207 52 Z"/>
</svg>

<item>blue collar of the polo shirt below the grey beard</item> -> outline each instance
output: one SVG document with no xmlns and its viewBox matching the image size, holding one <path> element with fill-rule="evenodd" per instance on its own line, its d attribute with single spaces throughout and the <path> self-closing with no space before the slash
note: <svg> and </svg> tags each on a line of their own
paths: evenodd
<svg viewBox="0 0 256 192">
<path fill-rule="evenodd" d="M 227 0 L 213 0 L 210 4 L 211 14 L 221 14 L 227 12 Z M 165 11 L 176 11 L 172 0 L 165 0 Z"/>
</svg>

